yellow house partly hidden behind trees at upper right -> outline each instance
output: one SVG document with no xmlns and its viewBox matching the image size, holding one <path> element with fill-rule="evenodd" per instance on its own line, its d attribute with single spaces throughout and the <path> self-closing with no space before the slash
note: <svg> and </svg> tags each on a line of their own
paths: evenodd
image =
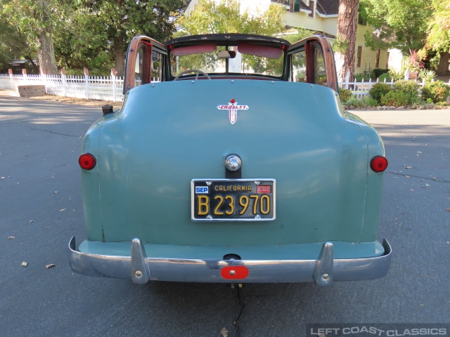
<svg viewBox="0 0 450 337">
<path fill-rule="evenodd" d="M 294 28 L 310 29 L 325 34 L 330 43 L 338 31 L 339 0 L 271 0 L 286 8 L 285 25 Z M 389 52 L 385 49 L 372 51 L 364 40 L 366 32 L 373 29 L 364 20 L 358 20 L 356 28 L 354 74 L 370 72 L 375 68 L 388 68 Z"/>
</svg>

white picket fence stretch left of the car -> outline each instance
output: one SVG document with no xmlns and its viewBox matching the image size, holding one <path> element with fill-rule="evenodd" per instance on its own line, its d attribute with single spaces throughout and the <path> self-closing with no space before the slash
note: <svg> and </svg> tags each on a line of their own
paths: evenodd
<svg viewBox="0 0 450 337">
<path fill-rule="evenodd" d="M 120 76 L 0 74 L 0 88 L 17 91 L 17 86 L 33 84 L 45 85 L 51 95 L 114 102 L 124 99 L 124 79 Z"/>
</svg>

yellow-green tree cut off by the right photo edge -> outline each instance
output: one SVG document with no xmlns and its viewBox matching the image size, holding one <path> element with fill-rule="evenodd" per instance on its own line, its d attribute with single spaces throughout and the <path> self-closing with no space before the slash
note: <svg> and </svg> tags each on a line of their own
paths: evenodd
<svg viewBox="0 0 450 337">
<path fill-rule="evenodd" d="M 445 76 L 449 70 L 450 55 L 450 0 L 432 1 L 434 13 L 428 25 L 427 46 L 439 53 L 437 75 Z"/>
</svg>

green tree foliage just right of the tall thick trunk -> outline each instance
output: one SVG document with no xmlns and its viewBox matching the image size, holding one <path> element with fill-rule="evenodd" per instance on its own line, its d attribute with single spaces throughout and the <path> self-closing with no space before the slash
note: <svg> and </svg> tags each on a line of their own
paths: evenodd
<svg viewBox="0 0 450 337">
<path fill-rule="evenodd" d="M 361 0 L 360 15 L 379 32 L 378 39 L 366 34 L 373 48 L 399 48 L 408 54 L 419 50 L 427 38 L 432 7 L 423 0 Z"/>
</svg>

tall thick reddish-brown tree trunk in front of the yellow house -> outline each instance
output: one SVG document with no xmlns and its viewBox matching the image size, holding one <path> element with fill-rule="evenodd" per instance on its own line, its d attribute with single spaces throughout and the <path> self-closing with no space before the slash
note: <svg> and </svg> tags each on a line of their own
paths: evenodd
<svg viewBox="0 0 450 337">
<path fill-rule="evenodd" d="M 356 41 L 356 27 L 358 26 L 359 0 L 340 0 L 338 13 L 337 39 L 345 41 L 346 51 L 338 51 L 335 55 L 338 80 L 345 81 L 347 72 L 350 81 L 354 79 L 354 49 Z"/>
</svg>

